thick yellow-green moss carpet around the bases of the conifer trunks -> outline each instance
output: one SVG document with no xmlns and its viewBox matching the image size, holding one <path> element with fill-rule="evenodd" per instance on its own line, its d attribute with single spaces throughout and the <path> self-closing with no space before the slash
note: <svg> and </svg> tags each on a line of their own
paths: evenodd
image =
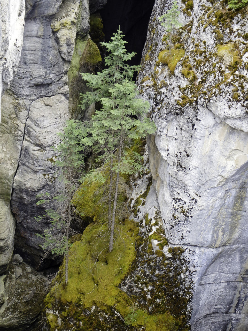
<svg viewBox="0 0 248 331">
<path fill-rule="evenodd" d="M 121 236 L 116 237 L 113 251 L 108 253 L 108 225 L 94 223 L 86 228 L 81 241 L 75 242 L 70 250 L 68 284 L 54 285 L 45 300 L 47 308 L 50 309 L 56 302 L 62 302 L 61 307 L 66 305 L 67 308 L 60 313 L 62 324 L 72 317 L 71 314 L 73 318 L 83 320 L 82 310 L 95 306 L 102 311 L 114 307 L 125 318 L 126 324 L 137 330 L 142 327 L 146 331 L 177 330 L 176 319 L 170 313 L 149 314 L 138 308 L 134 298 L 119 289 L 118 285 L 135 258 L 138 228 L 133 221 L 126 221 L 119 230 Z M 82 308 L 76 317 L 75 307 L 79 304 Z M 51 313 L 47 317 L 51 330 L 60 330 L 57 317 Z"/>
</svg>

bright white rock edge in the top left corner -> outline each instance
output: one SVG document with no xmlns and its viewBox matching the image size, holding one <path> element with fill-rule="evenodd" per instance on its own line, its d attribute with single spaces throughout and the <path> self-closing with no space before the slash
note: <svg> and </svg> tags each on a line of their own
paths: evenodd
<svg viewBox="0 0 248 331">
<path fill-rule="evenodd" d="M 1 1 L 0 91 L 9 87 L 20 60 L 24 31 L 25 0 Z M 1 111 L 0 111 L 1 121 Z M 1 125 L 1 124 L 0 124 Z"/>
</svg>

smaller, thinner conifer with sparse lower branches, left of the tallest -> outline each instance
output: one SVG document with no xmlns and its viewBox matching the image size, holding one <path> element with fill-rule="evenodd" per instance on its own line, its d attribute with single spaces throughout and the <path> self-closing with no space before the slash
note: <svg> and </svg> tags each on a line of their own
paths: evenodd
<svg viewBox="0 0 248 331">
<path fill-rule="evenodd" d="M 84 147 L 80 141 L 87 131 L 80 121 L 68 120 L 63 132 L 58 133 L 61 142 L 56 147 L 58 158 L 55 165 L 58 166 L 57 176 L 60 187 L 53 195 L 46 192 L 37 197 L 37 205 L 44 205 L 46 214 L 37 217 L 50 219 L 50 226 L 44 234 L 37 234 L 44 239 L 41 247 L 52 254 L 65 256 L 65 283 L 68 282 L 68 251 L 70 248 L 69 232 L 71 231 L 71 214 L 73 212 L 71 200 L 79 186 L 78 179 L 84 166 Z M 54 161 L 53 161 L 54 162 Z M 77 212 L 78 214 L 78 212 Z"/>
</svg>

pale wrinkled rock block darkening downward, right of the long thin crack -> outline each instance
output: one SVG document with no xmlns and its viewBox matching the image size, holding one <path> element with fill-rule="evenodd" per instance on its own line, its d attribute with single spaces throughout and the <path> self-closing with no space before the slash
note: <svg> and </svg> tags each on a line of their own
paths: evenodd
<svg viewBox="0 0 248 331">
<path fill-rule="evenodd" d="M 12 211 L 17 220 L 16 248 L 33 265 L 38 267 L 44 256 L 36 233 L 43 233 L 47 220 L 36 222 L 34 217 L 42 215 L 36 195 L 52 193 L 60 185 L 57 167 L 54 166 L 53 146 L 59 142 L 56 134 L 61 132 L 68 118 L 68 101 L 63 95 L 43 97 L 31 103 L 25 127 L 21 159 L 15 176 L 12 196 Z"/>
</svg>

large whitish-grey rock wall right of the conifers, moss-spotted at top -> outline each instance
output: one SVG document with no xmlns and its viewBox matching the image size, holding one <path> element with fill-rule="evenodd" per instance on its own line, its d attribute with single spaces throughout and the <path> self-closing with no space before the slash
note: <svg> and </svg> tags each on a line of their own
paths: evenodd
<svg viewBox="0 0 248 331">
<path fill-rule="evenodd" d="M 138 79 L 157 126 L 149 161 L 165 233 L 193 252 L 191 330 L 246 330 L 248 22 L 226 5 L 179 2 L 171 55 L 157 20 L 168 8 L 155 2 Z"/>
</svg>

